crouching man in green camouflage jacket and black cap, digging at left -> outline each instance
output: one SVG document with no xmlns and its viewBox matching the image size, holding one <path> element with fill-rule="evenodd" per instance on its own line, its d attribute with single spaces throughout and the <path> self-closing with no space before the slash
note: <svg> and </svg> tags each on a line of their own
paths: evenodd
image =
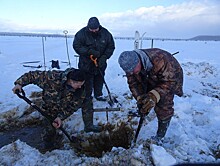
<svg viewBox="0 0 220 166">
<path fill-rule="evenodd" d="M 42 109 L 56 123 L 47 125 L 43 139 L 47 142 L 56 137 L 55 128 L 59 128 L 62 120 L 82 108 L 82 117 L 86 132 L 99 132 L 101 128 L 93 125 L 93 103 L 85 99 L 85 73 L 79 69 L 69 68 L 65 71 L 30 71 L 15 81 L 12 89 L 21 91 L 29 84 L 40 87 L 42 91 Z M 54 128 L 55 127 L 55 128 Z"/>
</svg>

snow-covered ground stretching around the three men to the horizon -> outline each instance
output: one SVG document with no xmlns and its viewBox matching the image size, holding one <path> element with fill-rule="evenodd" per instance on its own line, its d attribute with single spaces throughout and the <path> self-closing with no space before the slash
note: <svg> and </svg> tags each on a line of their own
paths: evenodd
<svg viewBox="0 0 220 166">
<path fill-rule="evenodd" d="M 46 68 L 51 69 L 51 60 L 59 60 L 62 70 L 68 62 L 65 38 L 43 38 Z M 76 67 L 78 59 L 74 57 L 72 39 L 68 39 L 71 66 Z M 118 65 L 118 56 L 122 51 L 132 50 L 132 40 L 115 40 L 116 50 L 108 61 L 106 82 L 110 91 L 118 96 L 122 112 L 109 114 L 109 121 L 117 123 L 127 121 L 128 111 L 135 111 L 134 99 L 128 99 L 128 89 L 124 72 Z M 143 48 L 149 48 L 151 41 L 144 40 Z M 40 61 L 40 70 L 44 70 L 44 58 L 41 37 L 0 37 L 0 122 L 7 123 L 7 118 L 19 119 L 24 114 L 27 104 L 11 91 L 13 82 L 24 72 L 35 70 L 23 67 L 21 63 Z M 113 148 L 101 158 L 77 156 L 66 146 L 41 154 L 37 149 L 17 140 L 0 149 L 0 165 L 152 165 L 152 155 L 157 166 L 179 163 L 220 163 L 216 152 L 220 151 L 220 42 L 217 41 L 154 41 L 154 47 L 165 49 L 175 55 L 184 69 L 184 96 L 175 97 L 175 115 L 172 118 L 162 147 L 152 145 L 151 154 L 144 143 L 157 130 L 157 119 L 145 121 L 137 144 L 130 149 Z M 34 64 L 28 64 L 34 65 Z M 27 96 L 32 91 L 40 91 L 34 85 L 24 88 Z M 107 95 L 105 88 L 103 92 Z M 96 102 L 95 107 L 105 107 L 106 103 Z M 117 114 L 117 116 L 115 115 Z M 32 114 L 35 118 L 36 113 Z M 153 111 L 151 117 L 154 117 Z M 117 117 L 117 118 L 116 118 Z M 106 123 L 105 113 L 95 113 L 96 122 Z M 150 119 L 150 118 L 149 118 Z M 138 122 L 139 118 L 135 118 Z M 81 114 L 78 111 L 66 122 L 68 131 L 83 129 Z M 134 126 L 135 128 L 137 127 Z"/>
</svg>

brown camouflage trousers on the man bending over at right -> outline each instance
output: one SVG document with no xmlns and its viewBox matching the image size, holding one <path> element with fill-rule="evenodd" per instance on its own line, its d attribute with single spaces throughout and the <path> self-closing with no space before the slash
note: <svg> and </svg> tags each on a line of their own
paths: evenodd
<svg viewBox="0 0 220 166">
<path fill-rule="evenodd" d="M 174 114 L 174 94 L 167 94 L 165 97 L 160 98 L 154 110 L 159 120 L 166 120 Z"/>
</svg>

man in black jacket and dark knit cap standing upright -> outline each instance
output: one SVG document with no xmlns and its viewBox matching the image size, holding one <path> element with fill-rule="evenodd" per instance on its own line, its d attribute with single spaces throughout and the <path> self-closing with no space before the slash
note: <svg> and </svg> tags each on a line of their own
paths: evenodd
<svg viewBox="0 0 220 166">
<path fill-rule="evenodd" d="M 99 101 L 106 101 L 102 93 L 103 77 L 107 59 L 112 56 L 115 49 L 111 33 L 100 25 L 96 17 L 91 17 L 88 25 L 76 33 L 73 48 L 79 54 L 79 69 L 86 73 L 86 97 L 92 98 L 94 89 L 94 97 Z M 95 66 L 91 55 L 97 60 L 98 66 Z"/>
</svg>

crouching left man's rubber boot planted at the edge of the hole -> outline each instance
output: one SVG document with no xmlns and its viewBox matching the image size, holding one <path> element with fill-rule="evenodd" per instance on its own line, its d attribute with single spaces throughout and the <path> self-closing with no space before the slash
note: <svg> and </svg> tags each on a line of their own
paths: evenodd
<svg viewBox="0 0 220 166">
<path fill-rule="evenodd" d="M 82 117 L 84 122 L 84 131 L 99 133 L 102 131 L 102 127 L 93 124 L 93 111 L 82 111 Z"/>
</svg>

